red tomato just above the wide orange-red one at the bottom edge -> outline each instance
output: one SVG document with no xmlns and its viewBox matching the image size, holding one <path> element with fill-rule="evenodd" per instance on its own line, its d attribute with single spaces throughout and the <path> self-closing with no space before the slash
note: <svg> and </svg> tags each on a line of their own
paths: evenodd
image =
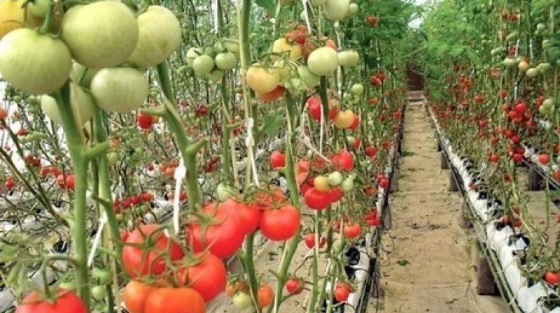
<svg viewBox="0 0 560 313">
<path fill-rule="evenodd" d="M 208 302 L 224 291 L 228 272 L 222 260 L 214 254 L 200 257 L 199 263 L 179 270 L 179 284 L 195 289 Z"/>
</svg>

